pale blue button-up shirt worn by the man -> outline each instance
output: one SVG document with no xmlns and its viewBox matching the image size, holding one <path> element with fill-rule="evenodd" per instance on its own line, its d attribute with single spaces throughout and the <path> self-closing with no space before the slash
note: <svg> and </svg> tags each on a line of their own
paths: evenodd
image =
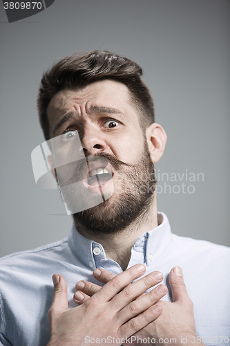
<svg viewBox="0 0 230 346">
<path fill-rule="evenodd" d="M 163 300 L 171 301 L 166 279 L 173 266 L 180 266 L 194 304 L 197 334 L 205 344 L 230 345 L 230 248 L 173 235 L 166 215 L 162 217 L 160 226 L 137 239 L 128 268 L 143 263 L 146 274 L 161 271 L 169 288 Z M 76 282 L 99 284 L 92 274 L 99 267 L 122 272 L 119 264 L 106 259 L 101 244 L 80 235 L 75 226 L 60 242 L 1 258 L 0 345 L 46 345 L 52 275 L 65 277 L 73 308 Z"/>
</svg>

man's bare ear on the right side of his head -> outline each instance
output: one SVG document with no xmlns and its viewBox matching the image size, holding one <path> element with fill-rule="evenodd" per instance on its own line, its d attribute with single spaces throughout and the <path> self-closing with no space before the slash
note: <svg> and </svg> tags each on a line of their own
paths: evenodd
<svg viewBox="0 0 230 346">
<path fill-rule="evenodd" d="M 151 156 L 151 161 L 156 163 L 164 153 L 167 136 L 162 126 L 154 122 L 146 129 L 146 140 Z"/>
</svg>

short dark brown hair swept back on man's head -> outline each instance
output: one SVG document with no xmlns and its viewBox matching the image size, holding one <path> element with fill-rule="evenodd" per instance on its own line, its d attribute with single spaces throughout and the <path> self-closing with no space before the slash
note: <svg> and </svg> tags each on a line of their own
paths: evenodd
<svg viewBox="0 0 230 346">
<path fill-rule="evenodd" d="M 154 105 L 142 75 L 142 68 L 138 64 L 108 51 L 75 53 L 61 59 L 44 73 L 39 87 L 37 109 L 46 140 L 50 138 L 47 107 L 52 97 L 58 91 L 82 89 L 90 83 L 106 79 L 117 80 L 128 87 L 132 101 L 143 114 L 140 125 L 146 129 L 155 121 Z"/>
</svg>

